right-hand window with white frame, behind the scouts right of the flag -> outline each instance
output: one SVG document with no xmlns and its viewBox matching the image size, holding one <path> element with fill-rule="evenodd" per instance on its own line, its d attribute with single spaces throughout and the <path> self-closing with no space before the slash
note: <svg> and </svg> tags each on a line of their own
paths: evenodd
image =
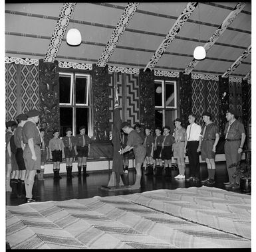
<svg viewBox="0 0 256 252">
<path fill-rule="evenodd" d="M 168 125 L 173 131 L 177 117 L 176 82 L 155 80 L 155 109 L 156 127 Z"/>
</svg>

